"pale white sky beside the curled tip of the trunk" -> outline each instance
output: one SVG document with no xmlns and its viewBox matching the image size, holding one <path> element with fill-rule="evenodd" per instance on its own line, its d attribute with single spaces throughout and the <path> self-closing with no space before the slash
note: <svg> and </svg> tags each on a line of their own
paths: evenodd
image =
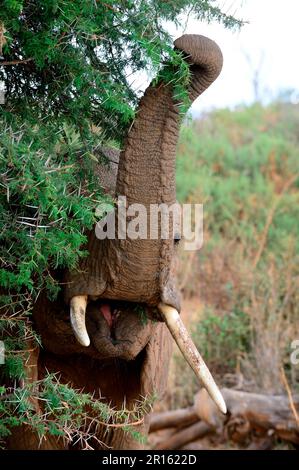
<svg viewBox="0 0 299 470">
<path fill-rule="evenodd" d="M 296 90 L 299 103 L 299 1 L 222 0 L 222 11 L 248 21 L 240 31 L 182 18 L 182 27 L 168 25 L 173 38 L 183 33 L 208 36 L 220 46 L 224 65 L 216 82 L 192 106 L 193 115 L 213 108 L 234 107 L 254 101 L 254 76 L 264 101 L 286 89 Z"/>
</svg>

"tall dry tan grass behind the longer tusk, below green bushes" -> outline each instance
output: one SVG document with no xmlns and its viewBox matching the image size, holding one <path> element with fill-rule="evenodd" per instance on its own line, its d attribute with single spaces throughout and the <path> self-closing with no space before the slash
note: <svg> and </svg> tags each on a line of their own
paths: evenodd
<svg viewBox="0 0 299 470">
<path fill-rule="evenodd" d="M 225 343 L 221 343 L 220 351 L 212 349 L 207 362 L 217 380 L 250 391 L 280 393 L 284 391 L 283 366 L 290 386 L 298 389 L 298 366 L 290 362 L 290 345 L 299 338 L 299 276 L 294 245 L 279 262 L 270 256 L 257 269 L 252 260 L 248 250 L 233 242 L 225 249 L 217 247 L 208 256 L 183 253 L 182 316 L 192 330 L 211 311 L 225 321 L 229 312 L 241 309 L 249 319 L 248 348 L 241 351 L 236 346 L 227 351 Z M 188 269 L 184 270 L 184 266 Z M 228 345 L 231 348 L 231 343 Z M 199 350 L 202 346 L 198 344 Z M 227 357 L 234 359 L 233 368 L 225 362 Z M 192 371 L 175 350 L 165 406 L 191 404 L 197 389 Z"/>
</svg>

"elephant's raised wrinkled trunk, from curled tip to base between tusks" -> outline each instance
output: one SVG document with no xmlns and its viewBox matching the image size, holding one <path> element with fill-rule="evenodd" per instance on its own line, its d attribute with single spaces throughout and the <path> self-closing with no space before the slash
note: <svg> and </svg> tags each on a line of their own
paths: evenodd
<svg viewBox="0 0 299 470">
<path fill-rule="evenodd" d="M 222 68 L 222 53 L 210 39 L 184 35 L 175 41 L 190 65 L 189 97 L 194 101 L 217 78 Z M 150 206 L 176 201 L 175 159 L 181 122 L 178 103 L 171 84 L 151 85 L 140 101 L 120 157 L 116 194 L 125 196 L 127 206 L 142 204 L 150 220 Z M 117 266 L 121 276 L 115 284 L 118 296 L 157 304 L 160 300 L 179 309 L 176 291 L 171 285 L 173 227 L 169 222 L 169 239 L 116 240 Z M 115 270 L 113 270 L 115 271 Z M 128 285 L 127 280 L 130 280 Z"/>
</svg>

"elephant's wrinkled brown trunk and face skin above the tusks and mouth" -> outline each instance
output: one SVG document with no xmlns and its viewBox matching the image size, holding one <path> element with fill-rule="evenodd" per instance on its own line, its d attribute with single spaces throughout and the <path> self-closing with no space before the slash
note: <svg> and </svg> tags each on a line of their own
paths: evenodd
<svg viewBox="0 0 299 470">
<path fill-rule="evenodd" d="M 175 41 L 190 63 L 189 95 L 194 101 L 219 75 L 222 54 L 208 38 L 184 35 Z M 150 86 L 140 101 L 136 120 L 120 156 L 116 195 L 126 196 L 128 205 L 176 201 L 175 153 L 179 135 L 179 109 L 169 85 Z M 76 295 L 145 302 L 162 301 L 180 310 L 170 276 L 174 240 L 97 240 L 91 234 L 90 256 L 80 273 L 69 273 L 66 302 Z"/>
</svg>

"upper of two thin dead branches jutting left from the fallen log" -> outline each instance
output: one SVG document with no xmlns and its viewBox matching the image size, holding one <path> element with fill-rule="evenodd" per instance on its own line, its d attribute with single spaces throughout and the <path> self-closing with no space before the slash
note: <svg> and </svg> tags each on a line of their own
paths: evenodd
<svg viewBox="0 0 299 470">
<path fill-rule="evenodd" d="M 170 410 L 163 413 L 153 413 L 151 416 L 149 432 L 155 432 L 165 428 L 181 428 L 198 421 L 198 415 L 193 406 Z"/>
</svg>

